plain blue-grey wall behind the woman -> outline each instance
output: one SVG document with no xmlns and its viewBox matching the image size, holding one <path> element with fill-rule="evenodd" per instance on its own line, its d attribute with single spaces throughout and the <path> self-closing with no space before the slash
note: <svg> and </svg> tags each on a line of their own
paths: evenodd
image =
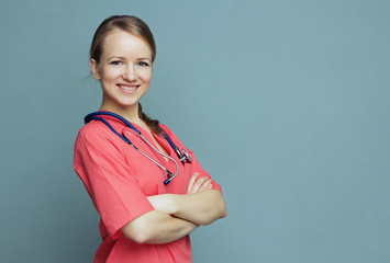
<svg viewBox="0 0 390 263">
<path fill-rule="evenodd" d="M 223 186 L 194 262 L 390 262 L 390 2 L 0 2 L 0 262 L 91 262 L 98 214 L 73 170 L 99 23 L 155 34 L 146 112 Z"/>
</svg>

